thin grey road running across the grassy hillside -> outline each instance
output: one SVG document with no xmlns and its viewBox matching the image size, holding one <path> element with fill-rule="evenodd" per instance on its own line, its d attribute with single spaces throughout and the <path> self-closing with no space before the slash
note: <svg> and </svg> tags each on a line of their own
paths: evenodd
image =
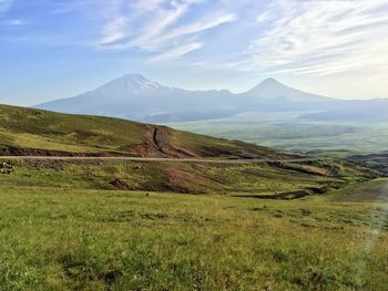
<svg viewBox="0 0 388 291">
<path fill-rule="evenodd" d="M 255 163 L 300 163 L 325 160 L 321 157 L 272 159 L 272 158 L 252 158 L 252 159 L 208 159 L 208 158 L 159 158 L 159 157 L 58 157 L 58 156 L 0 156 L 0 160 L 119 160 L 119 162 L 173 162 L 173 163 L 210 163 L 210 164 L 255 164 Z"/>
</svg>

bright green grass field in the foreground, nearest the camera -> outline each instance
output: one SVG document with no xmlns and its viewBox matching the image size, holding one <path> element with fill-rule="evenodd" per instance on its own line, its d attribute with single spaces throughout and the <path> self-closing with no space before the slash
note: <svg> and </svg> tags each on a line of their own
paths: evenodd
<svg viewBox="0 0 388 291">
<path fill-rule="evenodd" d="M 292 201 L 1 186 L 0 290 L 387 290 L 387 183 Z"/>
</svg>

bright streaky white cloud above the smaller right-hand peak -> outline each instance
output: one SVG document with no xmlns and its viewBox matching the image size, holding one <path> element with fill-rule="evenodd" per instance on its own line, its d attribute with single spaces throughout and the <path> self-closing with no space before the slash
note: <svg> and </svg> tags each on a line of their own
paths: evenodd
<svg viewBox="0 0 388 291">
<path fill-rule="evenodd" d="M 245 70 L 329 75 L 388 65 L 388 11 L 375 1 L 278 0 L 280 10 L 249 44 Z"/>
</svg>

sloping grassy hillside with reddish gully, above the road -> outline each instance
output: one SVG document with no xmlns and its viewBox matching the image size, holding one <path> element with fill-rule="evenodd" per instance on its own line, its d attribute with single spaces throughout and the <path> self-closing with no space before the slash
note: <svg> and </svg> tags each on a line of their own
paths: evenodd
<svg viewBox="0 0 388 291">
<path fill-rule="evenodd" d="M 279 152 L 118 118 L 0 105 L 0 154 L 282 157 Z"/>
</svg>

